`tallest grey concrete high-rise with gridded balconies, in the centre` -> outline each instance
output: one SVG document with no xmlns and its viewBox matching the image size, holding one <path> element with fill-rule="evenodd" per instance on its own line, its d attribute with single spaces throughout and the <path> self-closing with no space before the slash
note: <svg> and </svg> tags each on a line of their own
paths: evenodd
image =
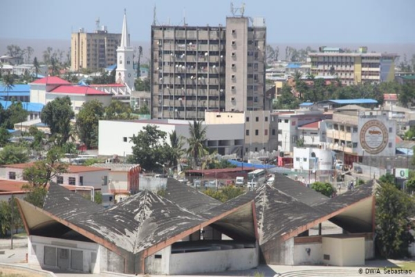
<svg viewBox="0 0 415 277">
<path fill-rule="evenodd" d="M 151 116 L 203 120 L 206 110 L 263 110 L 264 19 L 151 26 Z"/>
</svg>

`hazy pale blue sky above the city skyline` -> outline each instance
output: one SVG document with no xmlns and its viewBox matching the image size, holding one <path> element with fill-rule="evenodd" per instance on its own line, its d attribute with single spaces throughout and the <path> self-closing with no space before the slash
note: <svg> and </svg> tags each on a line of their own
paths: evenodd
<svg viewBox="0 0 415 277">
<path fill-rule="evenodd" d="M 241 1 L 234 1 L 241 6 Z M 267 42 L 415 43 L 414 0 L 245 0 L 245 15 L 265 17 Z M 95 29 L 95 19 L 120 33 L 127 9 L 132 41 L 150 40 L 158 24 L 217 26 L 230 16 L 225 0 L 3 0 L 0 39 L 71 39 L 71 30 Z"/>
</svg>

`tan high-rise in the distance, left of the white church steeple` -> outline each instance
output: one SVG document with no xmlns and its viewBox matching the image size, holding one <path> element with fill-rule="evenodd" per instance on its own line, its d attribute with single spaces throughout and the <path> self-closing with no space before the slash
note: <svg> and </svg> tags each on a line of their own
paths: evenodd
<svg viewBox="0 0 415 277">
<path fill-rule="evenodd" d="M 71 35 L 71 70 L 102 69 L 116 64 L 117 47 L 121 34 L 108 33 L 107 26 L 100 26 L 97 19 L 93 33 L 80 28 Z"/>
</svg>

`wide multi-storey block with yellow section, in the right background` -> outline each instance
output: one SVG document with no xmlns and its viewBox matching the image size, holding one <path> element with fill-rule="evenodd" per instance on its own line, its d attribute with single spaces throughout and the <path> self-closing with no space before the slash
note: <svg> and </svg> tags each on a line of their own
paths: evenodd
<svg viewBox="0 0 415 277">
<path fill-rule="evenodd" d="M 308 55 L 313 75 L 335 75 L 344 84 L 394 80 L 398 57 L 390 53 L 367 53 L 367 47 L 361 47 L 356 53 L 346 53 L 341 48 L 326 46 L 320 47 L 319 53 Z"/>
</svg>

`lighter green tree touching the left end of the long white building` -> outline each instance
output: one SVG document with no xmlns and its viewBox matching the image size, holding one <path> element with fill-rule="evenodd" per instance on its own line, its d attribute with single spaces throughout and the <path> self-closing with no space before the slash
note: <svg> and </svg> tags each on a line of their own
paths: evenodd
<svg viewBox="0 0 415 277">
<path fill-rule="evenodd" d="M 84 102 L 76 116 L 77 134 L 86 148 L 98 145 L 98 123 L 104 115 L 104 107 L 99 100 Z"/>
</svg>

